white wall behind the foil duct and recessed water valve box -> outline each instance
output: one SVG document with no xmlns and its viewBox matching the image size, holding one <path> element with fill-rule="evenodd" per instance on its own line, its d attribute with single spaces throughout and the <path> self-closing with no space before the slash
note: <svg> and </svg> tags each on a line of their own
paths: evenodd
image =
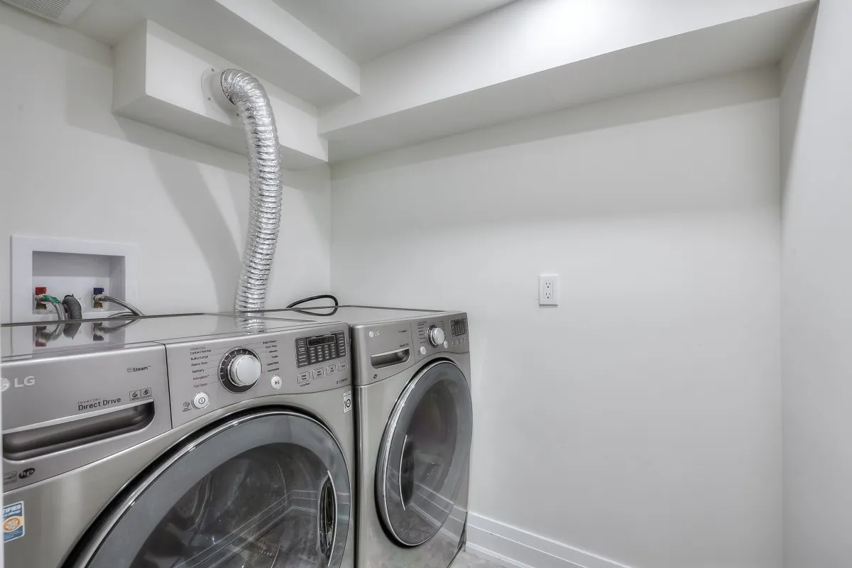
<svg viewBox="0 0 852 568">
<path fill-rule="evenodd" d="M 2 3 L 0 77 L 0 273 L 11 234 L 130 242 L 143 311 L 233 306 L 244 157 L 114 117 L 110 48 Z M 285 186 L 270 306 L 329 284 L 328 170 Z M 0 298 L 8 316 L 9 278 Z"/>
</svg>

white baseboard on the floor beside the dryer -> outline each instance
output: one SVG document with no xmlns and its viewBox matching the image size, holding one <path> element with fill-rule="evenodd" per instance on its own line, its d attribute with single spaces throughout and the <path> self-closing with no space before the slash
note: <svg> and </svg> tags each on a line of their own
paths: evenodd
<svg viewBox="0 0 852 568">
<path fill-rule="evenodd" d="M 630 568 L 476 513 L 468 514 L 468 549 L 506 568 Z"/>
</svg>

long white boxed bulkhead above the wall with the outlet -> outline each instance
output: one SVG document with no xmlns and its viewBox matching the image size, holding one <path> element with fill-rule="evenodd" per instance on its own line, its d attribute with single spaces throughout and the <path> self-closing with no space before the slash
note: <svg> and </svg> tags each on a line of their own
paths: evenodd
<svg viewBox="0 0 852 568">
<path fill-rule="evenodd" d="M 511 3 L 362 66 L 331 161 L 780 60 L 815 0 Z"/>
</svg>

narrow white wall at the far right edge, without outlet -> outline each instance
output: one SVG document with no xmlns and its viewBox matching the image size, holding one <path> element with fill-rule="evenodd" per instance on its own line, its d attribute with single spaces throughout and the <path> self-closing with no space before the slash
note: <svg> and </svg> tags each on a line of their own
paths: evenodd
<svg viewBox="0 0 852 568">
<path fill-rule="evenodd" d="M 787 568 L 852 557 L 852 3 L 822 0 L 786 61 L 784 516 Z"/>
</svg>

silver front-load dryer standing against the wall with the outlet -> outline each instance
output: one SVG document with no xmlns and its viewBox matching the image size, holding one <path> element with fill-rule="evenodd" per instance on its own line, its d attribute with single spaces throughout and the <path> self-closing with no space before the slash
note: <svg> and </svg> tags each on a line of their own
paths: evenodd
<svg viewBox="0 0 852 568">
<path fill-rule="evenodd" d="M 341 306 L 262 315 L 351 324 L 357 565 L 446 568 L 464 545 L 468 508 L 467 314 Z"/>
</svg>

